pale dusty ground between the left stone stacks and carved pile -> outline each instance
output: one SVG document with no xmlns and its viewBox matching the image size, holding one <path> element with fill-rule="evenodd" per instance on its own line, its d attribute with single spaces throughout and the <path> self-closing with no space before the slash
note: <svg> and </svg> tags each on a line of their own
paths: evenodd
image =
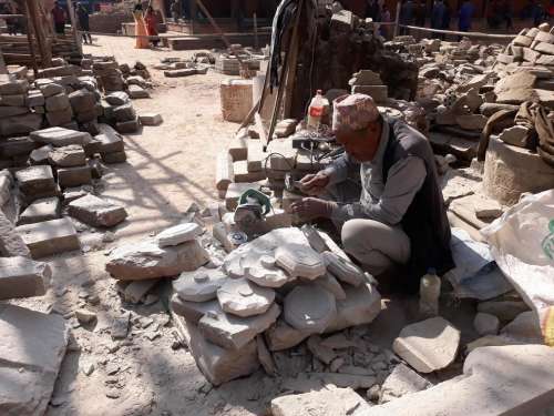
<svg viewBox="0 0 554 416">
<path fill-rule="evenodd" d="M 125 38 L 95 38 L 85 52 L 113 54 L 120 63 L 136 59 L 151 68 L 163 57 L 191 52 L 137 51 Z M 157 87 L 152 99 L 134 101 L 138 113 L 160 112 L 164 123 L 144 128 L 126 138 L 127 163 L 109 168 L 102 195 L 123 204 L 130 216 L 117 229 L 114 242 L 104 233 L 82 227 L 83 253 L 49 258 L 52 290 L 41 298 L 18 302 L 39 311 L 64 315 L 74 341 L 64 358 L 49 416 L 99 415 L 264 415 L 278 395 L 281 381 L 257 374 L 213 388 L 196 368 L 186 348 L 176 343 L 167 314 L 164 287 L 150 306 L 124 303 L 115 282 L 105 273 L 110 248 L 140 240 L 183 220 L 192 202 L 213 201 L 215 155 L 232 138 L 236 124 L 224 122 L 218 85 L 224 78 L 211 72 L 185 79 L 165 79 L 151 70 Z M 98 323 L 81 327 L 73 316 L 79 307 L 98 313 Z M 113 342 L 114 317 L 132 312 L 132 328 L 123 342 Z M 392 305 L 367 331 L 390 346 L 409 308 Z M 452 322 L 456 322 L 455 316 Z M 388 345 L 387 345 L 388 344 Z M 93 371 L 90 375 L 85 369 Z M 304 367 L 296 368 L 301 371 Z"/>
</svg>

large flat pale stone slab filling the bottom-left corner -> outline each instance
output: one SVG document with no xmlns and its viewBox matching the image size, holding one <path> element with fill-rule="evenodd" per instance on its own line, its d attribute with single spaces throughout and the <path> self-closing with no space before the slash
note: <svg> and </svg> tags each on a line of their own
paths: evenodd
<svg viewBox="0 0 554 416">
<path fill-rule="evenodd" d="M 0 305 L 0 414 L 47 413 L 68 342 L 63 317 Z"/>
</svg>

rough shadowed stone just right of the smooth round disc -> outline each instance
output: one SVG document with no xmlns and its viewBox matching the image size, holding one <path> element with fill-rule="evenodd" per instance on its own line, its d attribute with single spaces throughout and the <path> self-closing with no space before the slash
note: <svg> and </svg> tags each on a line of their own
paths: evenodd
<svg viewBox="0 0 554 416">
<path fill-rule="evenodd" d="M 381 312 L 381 295 L 371 284 L 343 287 L 346 300 L 337 300 L 337 317 L 326 328 L 335 332 L 371 323 Z"/>
</svg>

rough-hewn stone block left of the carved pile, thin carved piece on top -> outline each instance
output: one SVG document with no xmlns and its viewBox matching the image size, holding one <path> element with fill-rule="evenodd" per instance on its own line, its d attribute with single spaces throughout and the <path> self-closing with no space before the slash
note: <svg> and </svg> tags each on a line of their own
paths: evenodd
<svg viewBox="0 0 554 416">
<path fill-rule="evenodd" d="M 135 281 L 193 272 L 208 261 L 209 255 L 196 240 L 170 247 L 160 247 L 157 241 L 147 240 L 112 251 L 105 268 L 114 278 Z"/>
</svg>

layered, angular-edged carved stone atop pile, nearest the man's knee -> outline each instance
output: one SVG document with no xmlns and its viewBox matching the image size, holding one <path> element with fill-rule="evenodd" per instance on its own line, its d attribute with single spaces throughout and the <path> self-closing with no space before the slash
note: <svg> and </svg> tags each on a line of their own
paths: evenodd
<svg viewBox="0 0 554 416">
<path fill-rule="evenodd" d="M 286 244 L 275 251 L 275 262 L 293 277 L 315 280 L 325 274 L 322 257 L 310 246 Z"/>
</svg>

